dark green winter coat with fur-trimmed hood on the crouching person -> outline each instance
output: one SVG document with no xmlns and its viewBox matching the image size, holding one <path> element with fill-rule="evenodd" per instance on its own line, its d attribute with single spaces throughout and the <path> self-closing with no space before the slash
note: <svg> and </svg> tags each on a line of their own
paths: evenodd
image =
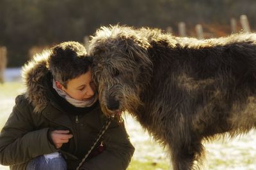
<svg viewBox="0 0 256 170">
<path fill-rule="evenodd" d="M 31 159 L 52 152 L 61 152 L 68 169 L 76 169 L 107 120 L 99 103 L 90 108 L 76 108 L 58 96 L 51 87 L 51 73 L 46 63 L 47 55 L 22 69 L 27 91 L 16 97 L 0 134 L 0 164 L 10 169 L 26 169 Z M 49 139 L 49 132 L 54 129 L 70 130 L 73 134 L 60 150 Z M 126 169 L 134 147 L 124 124 L 112 120 L 101 141 L 104 151 L 93 156 L 97 152 L 95 147 L 81 169 Z"/>
</svg>

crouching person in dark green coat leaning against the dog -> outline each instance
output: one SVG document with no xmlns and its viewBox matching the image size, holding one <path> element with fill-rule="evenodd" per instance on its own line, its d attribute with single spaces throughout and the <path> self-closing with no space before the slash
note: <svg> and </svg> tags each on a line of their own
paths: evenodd
<svg viewBox="0 0 256 170">
<path fill-rule="evenodd" d="M 100 110 L 92 61 L 69 41 L 22 67 L 26 92 L 0 134 L 0 163 L 10 169 L 76 169 L 108 120 Z M 123 123 L 111 124 L 80 169 L 122 170 L 134 147 Z"/>
</svg>

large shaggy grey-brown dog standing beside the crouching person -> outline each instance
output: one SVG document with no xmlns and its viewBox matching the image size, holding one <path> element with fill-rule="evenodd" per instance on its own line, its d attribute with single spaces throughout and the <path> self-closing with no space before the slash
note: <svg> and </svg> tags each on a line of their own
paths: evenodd
<svg viewBox="0 0 256 170">
<path fill-rule="evenodd" d="M 89 53 L 104 113 L 136 117 L 175 170 L 198 168 L 204 139 L 255 128 L 256 34 L 198 40 L 116 25 L 96 32 Z"/>
</svg>

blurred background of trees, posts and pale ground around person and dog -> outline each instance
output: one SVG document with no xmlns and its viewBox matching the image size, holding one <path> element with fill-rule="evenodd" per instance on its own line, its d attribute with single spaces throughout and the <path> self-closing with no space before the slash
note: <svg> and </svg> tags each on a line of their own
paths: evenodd
<svg viewBox="0 0 256 170">
<path fill-rule="evenodd" d="M 255 0 L 0 0 L 0 129 L 24 92 L 20 67 L 62 41 L 85 46 L 100 26 L 154 27 L 175 36 L 217 38 L 255 32 Z M 127 116 L 136 148 L 129 169 L 170 169 L 164 148 Z M 256 133 L 205 143 L 205 169 L 256 169 Z M 0 166 L 0 169 L 8 167 Z"/>
</svg>

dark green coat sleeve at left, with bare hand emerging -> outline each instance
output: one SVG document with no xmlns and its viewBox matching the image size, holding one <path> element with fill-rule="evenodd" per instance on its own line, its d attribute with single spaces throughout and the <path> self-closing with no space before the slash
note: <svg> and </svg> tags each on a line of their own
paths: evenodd
<svg viewBox="0 0 256 170">
<path fill-rule="evenodd" d="M 24 100 L 16 99 L 0 134 L 0 164 L 4 166 L 21 164 L 38 155 L 56 152 L 47 139 L 49 129 L 35 130 L 29 104 Z"/>
</svg>

